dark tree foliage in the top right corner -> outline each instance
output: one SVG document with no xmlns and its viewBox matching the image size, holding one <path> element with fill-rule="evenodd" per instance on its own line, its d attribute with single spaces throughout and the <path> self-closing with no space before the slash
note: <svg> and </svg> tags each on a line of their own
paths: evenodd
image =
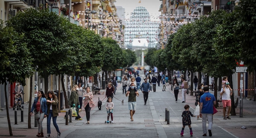
<svg viewBox="0 0 256 138">
<path fill-rule="evenodd" d="M 235 35 L 241 45 L 241 60 L 256 70 L 256 0 L 240 0 L 237 7 L 238 23 L 234 26 Z"/>
</svg>

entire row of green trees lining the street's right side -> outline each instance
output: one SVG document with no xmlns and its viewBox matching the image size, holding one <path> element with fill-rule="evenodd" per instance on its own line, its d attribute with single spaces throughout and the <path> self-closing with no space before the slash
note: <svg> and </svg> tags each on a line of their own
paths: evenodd
<svg viewBox="0 0 256 138">
<path fill-rule="evenodd" d="M 255 0 L 240 0 L 231 13 L 215 10 L 193 23 L 180 27 L 168 38 L 165 49 L 151 49 L 146 63 L 163 70 L 203 72 L 207 77 L 228 76 L 233 87 L 232 74 L 237 61 L 243 61 L 248 71 L 256 70 L 256 5 Z M 201 76 L 199 77 L 201 78 Z M 191 75 L 190 80 L 193 80 Z M 217 87 L 215 79 L 215 88 Z M 193 84 L 191 82 L 191 84 Z M 191 85 L 190 90 L 193 90 Z M 217 89 L 214 92 L 217 99 Z M 234 96 L 231 114 L 235 113 Z"/>
</svg>

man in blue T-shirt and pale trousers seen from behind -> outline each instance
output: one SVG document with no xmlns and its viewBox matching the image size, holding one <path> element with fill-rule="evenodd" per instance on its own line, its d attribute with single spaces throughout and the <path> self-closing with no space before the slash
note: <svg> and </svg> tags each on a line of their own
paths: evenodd
<svg viewBox="0 0 256 138">
<path fill-rule="evenodd" d="M 200 97 L 200 117 L 203 123 L 203 136 L 207 136 L 206 121 L 208 120 L 208 132 L 209 136 L 212 136 L 212 117 L 213 117 L 213 105 L 216 105 L 216 99 L 214 95 L 209 93 L 209 86 L 203 87 L 204 94 Z"/>
</svg>

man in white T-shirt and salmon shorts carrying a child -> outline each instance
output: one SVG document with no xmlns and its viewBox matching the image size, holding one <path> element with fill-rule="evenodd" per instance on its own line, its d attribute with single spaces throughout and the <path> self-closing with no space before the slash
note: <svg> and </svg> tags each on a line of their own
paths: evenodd
<svg viewBox="0 0 256 138">
<path fill-rule="evenodd" d="M 221 89 L 220 95 L 222 96 L 222 104 L 223 104 L 223 116 L 224 120 L 231 119 L 229 117 L 230 111 L 231 111 L 231 99 L 230 96 L 233 95 L 233 90 L 229 86 L 229 82 L 226 82 L 225 91 L 223 91 L 223 88 Z M 226 117 L 226 107 L 228 107 L 227 110 L 227 117 Z"/>
</svg>

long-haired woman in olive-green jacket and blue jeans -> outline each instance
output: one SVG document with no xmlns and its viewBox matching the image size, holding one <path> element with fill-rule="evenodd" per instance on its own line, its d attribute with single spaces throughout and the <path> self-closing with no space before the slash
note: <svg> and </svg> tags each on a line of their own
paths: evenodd
<svg viewBox="0 0 256 138">
<path fill-rule="evenodd" d="M 51 133 L 51 118 L 53 126 L 57 131 L 57 137 L 61 136 L 61 132 L 59 132 L 58 124 L 56 123 L 57 116 L 59 115 L 58 111 L 58 99 L 52 91 L 48 91 L 47 93 L 47 136 L 46 138 L 50 137 Z"/>
</svg>

